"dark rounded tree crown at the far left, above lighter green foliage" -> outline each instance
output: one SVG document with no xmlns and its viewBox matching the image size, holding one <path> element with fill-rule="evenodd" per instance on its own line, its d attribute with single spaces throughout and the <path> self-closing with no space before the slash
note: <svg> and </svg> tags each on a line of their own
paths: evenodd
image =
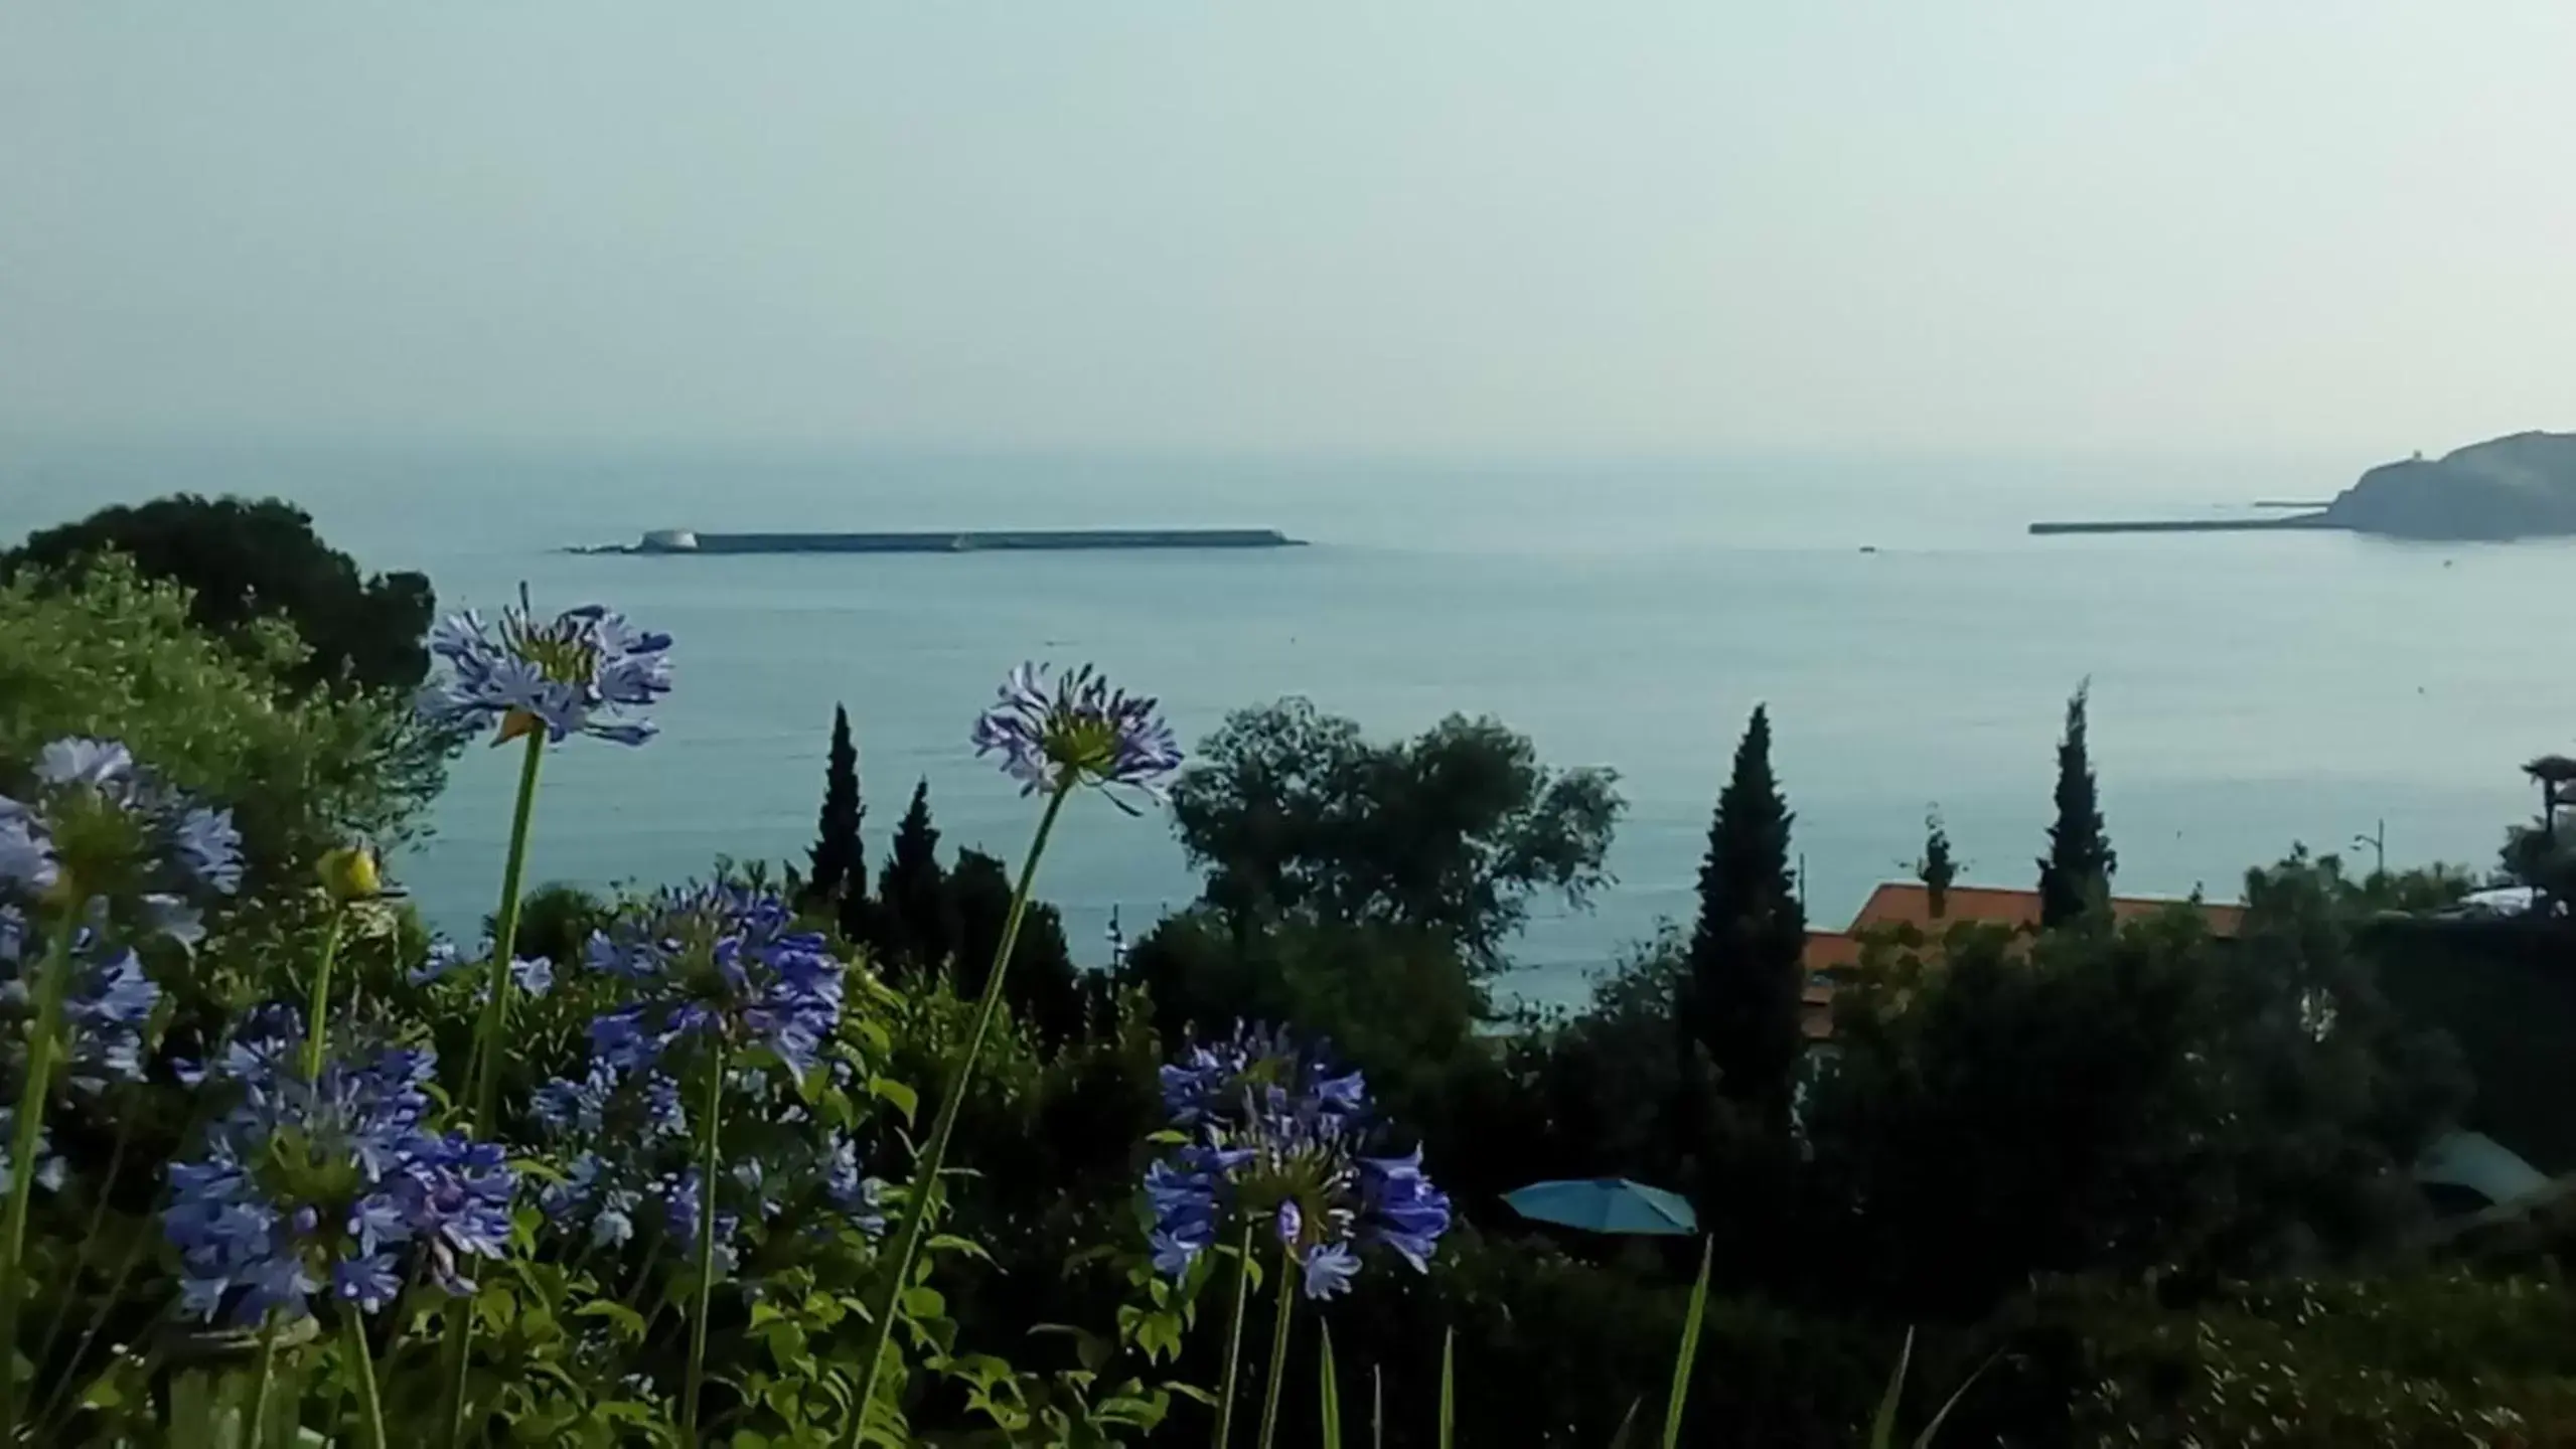
<svg viewBox="0 0 2576 1449">
<path fill-rule="evenodd" d="M 428 577 L 361 574 L 283 499 L 173 494 L 106 507 L 0 553 L 0 579 L 77 577 L 100 553 L 124 553 L 144 579 L 185 584 L 188 618 L 224 638 L 245 641 L 252 623 L 283 618 L 307 649 L 294 685 L 415 690 L 428 677 L 422 638 L 438 610 Z"/>
</svg>

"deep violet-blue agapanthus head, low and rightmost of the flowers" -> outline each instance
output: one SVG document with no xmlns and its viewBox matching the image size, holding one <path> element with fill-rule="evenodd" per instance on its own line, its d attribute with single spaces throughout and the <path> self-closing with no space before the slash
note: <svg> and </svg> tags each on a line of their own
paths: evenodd
<svg viewBox="0 0 2576 1449">
<path fill-rule="evenodd" d="M 1383 1246 L 1430 1269 L 1450 1202 L 1422 1150 L 1381 1156 L 1368 1084 L 1321 1048 L 1244 1027 L 1162 1068 L 1164 1107 L 1188 1132 L 1146 1168 L 1154 1266 L 1180 1277 L 1229 1225 L 1267 1228 L 1301 1269 L 1306 1297 L 1334 1297 Z"/>
</svg>

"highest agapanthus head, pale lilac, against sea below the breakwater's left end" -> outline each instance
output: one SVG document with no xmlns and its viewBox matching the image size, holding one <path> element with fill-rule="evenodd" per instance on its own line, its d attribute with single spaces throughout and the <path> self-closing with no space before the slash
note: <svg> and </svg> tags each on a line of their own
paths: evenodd
<svg viewBox="0 0 2576 1449">
<path fill-rule="evenodd" d="M 430 654 L 448 669 L 422 690 L 420 713 L 466 734 L 500 726 L 500 739 L 541 728 L 554 744 L 574 734 L 644 744 L 654 723 L 641 710 L 670 692 L 667 633 L 600 605 L 538 620 L 526 589 L 497 631 L 474 610 L 438 620 Z"/>
</svg>

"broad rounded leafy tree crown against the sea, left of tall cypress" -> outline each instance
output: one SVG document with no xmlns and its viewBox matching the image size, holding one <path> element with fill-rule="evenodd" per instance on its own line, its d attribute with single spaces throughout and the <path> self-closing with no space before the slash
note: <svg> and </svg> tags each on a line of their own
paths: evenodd
<svg viewBox="0 0 2576 1449">
<path fill-rule="evenodd" d="M 1533 898 L 1582 906 L 1607 883 L 1618 813 L 1610 770 L 1548 770 L 1494 718 L 1373 744 L 1298 697 L 1231 715 L 1172 793 L 1206 898 L 1239 929 L 1278 916 L 1409 927 L 1479 970 L 1499 968 Z"/>
</svg>

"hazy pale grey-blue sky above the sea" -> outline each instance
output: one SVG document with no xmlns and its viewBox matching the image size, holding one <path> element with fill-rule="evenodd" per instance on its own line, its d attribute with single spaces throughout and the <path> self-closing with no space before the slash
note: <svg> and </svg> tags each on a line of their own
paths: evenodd
<svg viewBox="0 0 2576 1449">
<path fill-rule="evenodd" d="M 0 5 L 0 430 L 2576 427 L 2568 0 Z"/>
</svg>

